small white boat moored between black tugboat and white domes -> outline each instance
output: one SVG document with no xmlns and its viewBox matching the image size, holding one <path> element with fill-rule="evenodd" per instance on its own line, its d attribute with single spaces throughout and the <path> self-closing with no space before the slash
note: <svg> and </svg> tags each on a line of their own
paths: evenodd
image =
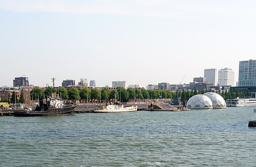
<svg viewBox="0 0 256 167">
<path fill-rule="evenodd" d="M 100 108 L 94 110 L 94 112 L 132 112 L 137 111 L 138 106 L 126 106 L 124 104 L 106 104 L 106 106 L 100 106 Z"/>
</svg>

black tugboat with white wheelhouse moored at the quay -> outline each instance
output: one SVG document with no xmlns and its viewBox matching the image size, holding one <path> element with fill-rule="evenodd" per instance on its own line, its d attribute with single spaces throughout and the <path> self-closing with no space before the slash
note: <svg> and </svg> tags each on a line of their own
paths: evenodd
<svg viewBox="0 0 256 167">
<path fill-rule="evenodd" d="M 56 96 L 56 92 L 52 92 L 52 96 L 47 96 L 46 104 L 43 103 L 43 98 L 39 98 L 39 106 L 36 106 L 34 111 L 14 111 L 14 116 L 56 116 L 73 114 L 76 103 L 63 103 L 63 101 Z"/>
</svg>

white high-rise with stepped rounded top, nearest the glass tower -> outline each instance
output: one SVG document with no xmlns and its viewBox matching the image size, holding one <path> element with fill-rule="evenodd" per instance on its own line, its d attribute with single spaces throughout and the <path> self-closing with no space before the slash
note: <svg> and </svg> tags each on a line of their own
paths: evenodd
<svg viewBox="0 0 256 167">
<path fill-rule="evenodd" d="M 234 86 L 234 77 L 235 72 L 232 69 L 220 69 L 218 74 L 218 84 L 220 86 Z"/>
</svg>

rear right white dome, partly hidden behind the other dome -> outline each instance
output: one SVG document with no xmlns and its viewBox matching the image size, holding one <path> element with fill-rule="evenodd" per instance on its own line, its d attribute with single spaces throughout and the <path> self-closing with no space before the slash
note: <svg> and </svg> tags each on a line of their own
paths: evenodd
<svg viewBox="0 0 256 167">
<path fill-rule="evenodd" d="M 211 99 L 213 108 L 227 108 L 226 102 L 220 94 L 207 92 L 204 95 Z"/>
</svg>

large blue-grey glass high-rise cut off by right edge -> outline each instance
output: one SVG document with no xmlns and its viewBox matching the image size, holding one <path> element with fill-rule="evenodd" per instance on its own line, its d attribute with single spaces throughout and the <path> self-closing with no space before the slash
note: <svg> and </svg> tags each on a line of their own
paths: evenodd
<svg viewBox="0 0 256 167">
<path fill-rule="evenodd" d="M 238 86 L 256 86 L 256 60 L 239 61 Z"/>
</svg>

